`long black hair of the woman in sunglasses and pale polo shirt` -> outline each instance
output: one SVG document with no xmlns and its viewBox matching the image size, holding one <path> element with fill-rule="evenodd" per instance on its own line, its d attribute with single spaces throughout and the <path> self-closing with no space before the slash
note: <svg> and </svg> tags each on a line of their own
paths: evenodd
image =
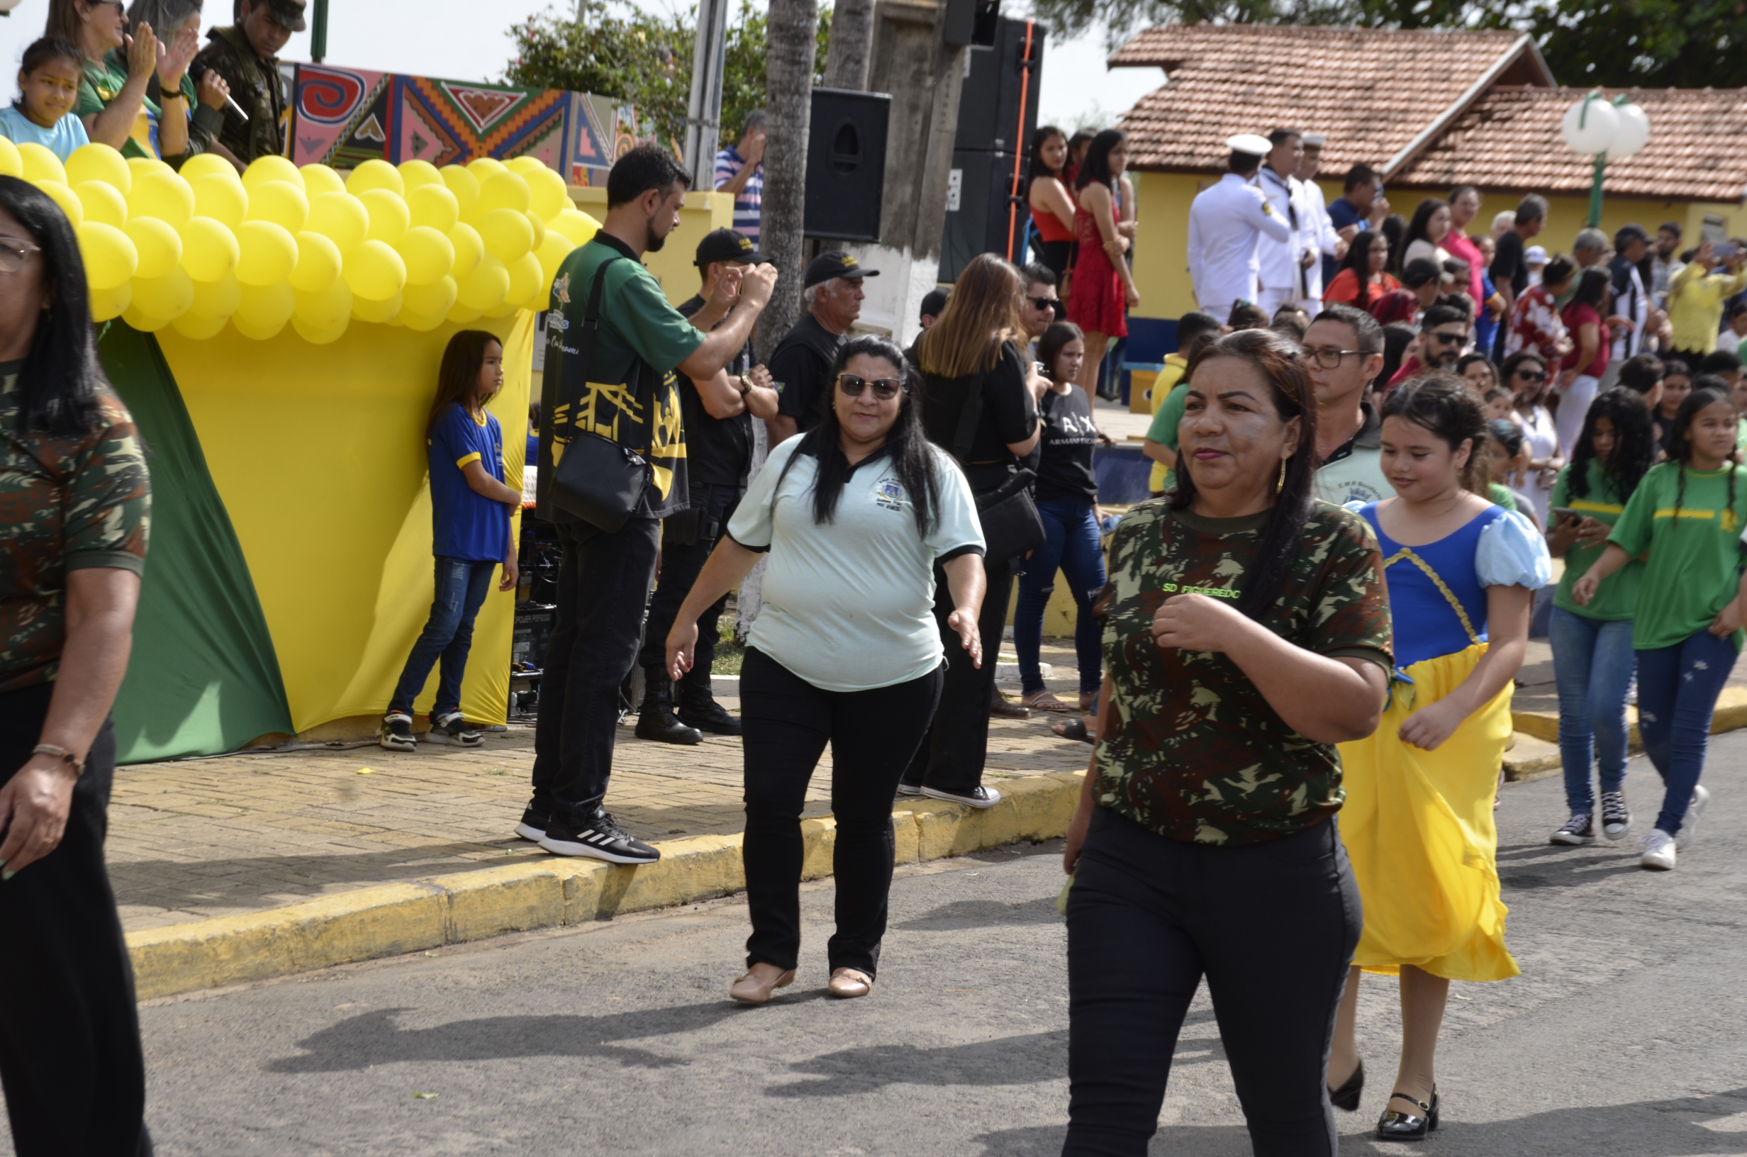
<svg viewBox="0 0 1747 1157">
<path fill-rule="evenodd" d="M 891 423 L 886 444 L 851 467 L 849 458 L 844 454 L 842 426 L 837 421 L 837 376 L 849 365 L 849 358 L 860 355 L 891 362 L 903 381 L 903 391 L 898 395 L 898 419 Z M 926 535 L 940 521 L 940 479 L 935 474 L 935 454 L 940 453 L 943 451 L 936 451 L 922 430 L 922 404 L 915 393 L 915 371 L 910 369 L 903 350 L 889 337 L 865 334 L 851 337 L 837 348 L 837 364 L 832 365 L 825 414 L 819 418 L 819 425 L 802 435 L 795 454 L 783 465 L 783 475 L 788 475 L 795 465 L 795 458 L 802 454 L 811 454 L 819 461 L 819 474 L 812 484 L 812 521 L 823 526 L 835 521 L 837 500 L 842 498 L 844 486 L 854 477 L 856 470 L 870 461 L 887 460 L 891 463 L 889 468 L 898 475 L 898 482 L 910 498 L 910 512 L 915 516 L 917 533 Z M 781 488 L 783 477 L 777 477 L 776 484 Z"/>
</svg>

